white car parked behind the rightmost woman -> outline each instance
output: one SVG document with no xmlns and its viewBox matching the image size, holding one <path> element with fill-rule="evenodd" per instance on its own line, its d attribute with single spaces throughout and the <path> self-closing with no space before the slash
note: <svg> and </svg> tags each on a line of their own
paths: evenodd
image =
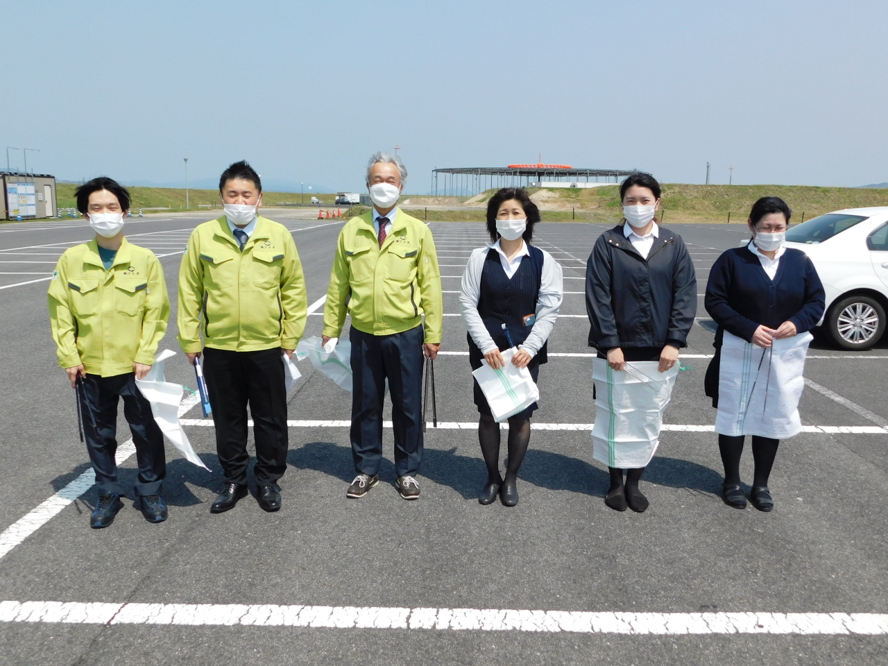
<svg viewBox="0 0 888 666">
<path fill-rule="evenodd" d="M 836 345 L 875 345 L 888 311 L 888 207 L 836 210 L 789 226 L 786 246 L 813 261 L 827 295 L 819 323 Z"/>
</svg>

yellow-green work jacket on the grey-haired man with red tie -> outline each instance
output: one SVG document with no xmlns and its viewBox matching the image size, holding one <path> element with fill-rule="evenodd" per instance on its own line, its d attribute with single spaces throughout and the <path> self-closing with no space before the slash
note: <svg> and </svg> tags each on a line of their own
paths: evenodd
<svg viewBox="0 0 888 666">
<path fill-rule="evenodd" d="M 339 337 L 346 299 L 352 326 L 377 336 L 414 329 L 425 314 L 425 342 L 441 341 L 441 278 L 432 232 L 398 210 L 379 247 L 373 211 L 350 219 L 339 233 L 324 304 L 324 335 Z"/>
</svg>

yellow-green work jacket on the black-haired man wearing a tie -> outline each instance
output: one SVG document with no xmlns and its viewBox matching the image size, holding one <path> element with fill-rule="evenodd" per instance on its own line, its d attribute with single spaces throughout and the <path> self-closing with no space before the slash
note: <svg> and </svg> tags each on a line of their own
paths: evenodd
<svg viewBox="0 0 888 666">
<path fill-rule="evenodd" d="M 241 250 L 228 220 L 197 226 L 178 272 L 178 343 L 233 352 L 296 349 L 305 330 L 305 277 L 293 235 L 259 217 Z M 203 344 L 201 343 L 203 336 Z"/>
</svg>

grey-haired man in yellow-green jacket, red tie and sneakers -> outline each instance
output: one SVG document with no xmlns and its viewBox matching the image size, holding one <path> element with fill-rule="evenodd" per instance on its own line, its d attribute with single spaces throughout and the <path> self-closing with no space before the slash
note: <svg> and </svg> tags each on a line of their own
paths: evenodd
<svg viewBox="0 0 888 666">
<path fill-rule="evenodd" d="M 346 496 L 379 482 L 385 379 L 392 394 L 395 481 L 400 496 L 419 497 L 423 459 L 423 356 L 441 342 L 441 280 L 428 226 L 397 207 L 407 179 L 400 157 L 376 153 L 367 167 L 373 210 L 339 234 L 324 305 L 324 344 L 352 313 L 352 456 L 357 476 Z M 346 306 L 347 301 L 347 306 Z M 423 314 L 425 326 L 423 327 Z"/>
</svg>

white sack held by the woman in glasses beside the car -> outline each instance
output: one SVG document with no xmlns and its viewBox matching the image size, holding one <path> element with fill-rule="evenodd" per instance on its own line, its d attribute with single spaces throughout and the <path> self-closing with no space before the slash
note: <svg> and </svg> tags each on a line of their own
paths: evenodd
<svg viewBox="0 0 888 666">
<path fill-rule="evenodd" d="M 768 349 L 725 331 L 718 369 L 716 432 L 785 440 L 802 431 L 798 400 L 813 336 L 775 339 Z"/>
</svg>

